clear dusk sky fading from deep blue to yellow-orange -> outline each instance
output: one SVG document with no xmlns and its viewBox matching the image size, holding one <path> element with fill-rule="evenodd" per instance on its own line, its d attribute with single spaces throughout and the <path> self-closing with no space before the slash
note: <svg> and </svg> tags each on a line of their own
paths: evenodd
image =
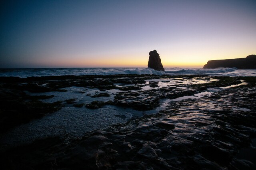
<svg viewBox="0 0 256 170">
<path fill-rule="evenodd" d="M 4 0 L 0 68 L 203 67 L 256 54 L 256 0 Z"/>
</svg>

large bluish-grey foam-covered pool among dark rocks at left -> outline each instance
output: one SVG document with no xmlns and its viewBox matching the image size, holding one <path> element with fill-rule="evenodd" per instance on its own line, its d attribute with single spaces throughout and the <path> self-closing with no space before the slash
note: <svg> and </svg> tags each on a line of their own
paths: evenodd
<svg viewBox="0 0 256 170">
<path fill-rule="evenodd" d="M 115 115 L 124 115 L 120 118 Z M 16 146 L 33 142 L 36 139 L 52 136 L 81 137 L 86 132 L 103 129 L 116 123 L 124 123 L 132 114 L 114 106 L 100 109 L 64 107 L 56 113 L 46 115 L 30 123 L 20 125 L 0 136 L 2 147 Z"/>
</svg>

